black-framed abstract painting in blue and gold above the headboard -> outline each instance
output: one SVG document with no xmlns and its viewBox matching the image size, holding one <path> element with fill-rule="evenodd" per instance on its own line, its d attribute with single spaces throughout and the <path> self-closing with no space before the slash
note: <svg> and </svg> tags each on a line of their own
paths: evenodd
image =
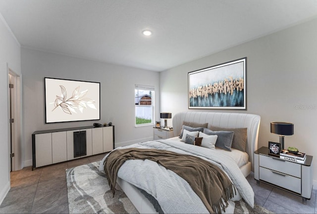
<svg viewBox="0 0 317 214">
<path fill-rule="evenodd" d="M 189 109 L 247 109 L 247 57 L 188 73 Z"/>
</svg>

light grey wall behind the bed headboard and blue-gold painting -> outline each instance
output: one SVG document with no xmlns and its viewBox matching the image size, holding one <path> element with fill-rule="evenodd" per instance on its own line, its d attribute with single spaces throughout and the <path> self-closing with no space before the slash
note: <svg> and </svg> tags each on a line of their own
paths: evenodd
<svg viewBox="0 0 317 214">
<path fill-rule="evenodd" d="M 285 147 L 315 155 L 317 181 L 317 19 L 180 65 L 160 74 L 161 111 L 188 111 L 188 72 L 247 58 L 247 110 L 261 116 L 259 148 L 278 142 L 270 122 L 294 123 Z M 306 108 L 305 108 L 306 107 Z M 214 110 L 224 111 L 224 110 Z"/>
</svg>

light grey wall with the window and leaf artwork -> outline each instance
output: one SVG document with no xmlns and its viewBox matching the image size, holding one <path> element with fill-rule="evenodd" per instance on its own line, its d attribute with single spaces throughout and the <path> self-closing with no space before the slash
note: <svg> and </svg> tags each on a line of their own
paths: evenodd
<svg viewBox="0 0 317 214">
<path fill-rule="evenodd" d="M 21 48 L 23 71 L 23 120 L 25 166 L 32 162 L 32 133 L 36 130 L 92 126 L 115 126 L 115 145 L 153 139 L 153 126 L 135 128 L 135 84 L 155 86 L 159 94 L 159 73 L 106 64 L 70 56 Z M 45 124 L 44 77 L 101 83 L 101 120 Z M 159 96 L 155 98 L 159 117 Z"/>
</svg>

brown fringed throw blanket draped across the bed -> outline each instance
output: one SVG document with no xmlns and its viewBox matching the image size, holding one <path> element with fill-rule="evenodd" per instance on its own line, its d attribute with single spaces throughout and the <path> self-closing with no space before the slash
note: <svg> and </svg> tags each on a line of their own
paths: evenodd
<svg viewBox="0 0 317 214">
<path fill-rule="evenodd" d="M 127 148 L 113 150 L 105 160 L 105 172 L 113 194 L 117 172 L 130 159 L 155 161 L 185 179 L 210 213 L 220 213 L 236 194 L 234 185 L 217 166 L 199 157 L 159 149 Z"/>
</svg>

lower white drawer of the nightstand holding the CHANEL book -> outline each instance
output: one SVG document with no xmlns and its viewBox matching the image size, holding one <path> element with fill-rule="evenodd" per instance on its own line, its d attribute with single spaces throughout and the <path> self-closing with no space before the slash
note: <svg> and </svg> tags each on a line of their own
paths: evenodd
<svg viewBox="0 0 317 214">
<path fill-rule="evenodd" d="M 302 193 L 302 180 L 300 178 L 283 174 L 278 171 L 272 171 L 263 167 L 260 167 L 260 178 L 261 180 L 283 187 L 293 192 L 299 194 Z"/>
</svg>

